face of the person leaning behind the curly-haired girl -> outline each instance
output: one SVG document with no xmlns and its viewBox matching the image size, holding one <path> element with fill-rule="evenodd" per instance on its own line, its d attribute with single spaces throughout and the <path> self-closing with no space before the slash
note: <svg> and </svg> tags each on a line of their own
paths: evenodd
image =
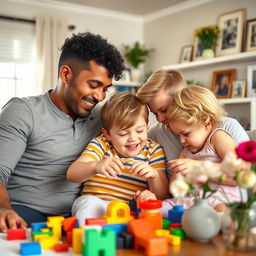
<svg viewBox="0 0 256 256">
<path fill-rule="evenodd" d="M 148 103 L 150 111 L 155 115 L 159 123 L 163 123 L 168 126 L 168 107 L 171 104 L 175 94 L 184 87 L 185 86 L 182 84 L 176 85 L 175 88 L 173 87 L 171 89 L 165 89 L 162 87 Z"/>
</svg>

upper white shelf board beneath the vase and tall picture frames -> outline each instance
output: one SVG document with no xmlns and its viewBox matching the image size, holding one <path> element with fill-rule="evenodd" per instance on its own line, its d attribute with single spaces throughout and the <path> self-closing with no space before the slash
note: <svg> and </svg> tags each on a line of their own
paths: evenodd
<svg viewBox="0 0 256 256">
<path fill-rule="evenodd" d="M 188 63 L 181 63 L 181 64 L 174 64 L 174 65 L 167 65 L 163 66 L 163 69 L 178 69 L 178 70 L 184 70 L 184 69 L 192 69 L 197 68 L 201 66 L 210 66 L 215 65 L 218 63 L 227 64 L 229 62 L 247 62 L 250 60 L 256 61 L 256 51 L 251 52 L 242 52 L 234 55 L 228 55 L 228 56 L 221 56 L 221 57 L 215 57 L 212 59 L 205 59 L 205 60 L 198 60 L 198 61 L 191 61 Z"/>
</svg>

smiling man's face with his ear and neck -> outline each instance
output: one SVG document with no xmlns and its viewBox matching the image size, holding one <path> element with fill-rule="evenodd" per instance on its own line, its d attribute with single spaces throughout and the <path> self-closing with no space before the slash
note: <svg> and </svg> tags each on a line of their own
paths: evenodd
<svg viewBox="0 0 256 256">
<path fill-rule="evenodd" d="M 50 95 L 54 104 L 72 119 L 88 116 L 95 105 L 103 101 L 112 79 L 108 70 L 90 61 L 88 68 L 83 68 L 77 75 L 71 68 L 63 65 L 60 71 L 61 89 Z M 54 96 L 58 94 L 58 96 Z M 60 97 L 60 94 L 62 97 Z"/>
</svg>

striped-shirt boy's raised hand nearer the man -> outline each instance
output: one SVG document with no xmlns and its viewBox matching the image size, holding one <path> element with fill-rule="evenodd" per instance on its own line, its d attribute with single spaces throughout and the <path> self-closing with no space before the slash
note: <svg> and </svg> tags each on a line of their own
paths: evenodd
<svg viewBox="0 0 256 256">
<path fill-rule="evenodd" d="M 123 163 L 119 158 L 104 157 L 96 164 L 96 173 L 107 178 L 117 178 L 117 175 L 122 173 L 123 168 Z"/>
</svg>

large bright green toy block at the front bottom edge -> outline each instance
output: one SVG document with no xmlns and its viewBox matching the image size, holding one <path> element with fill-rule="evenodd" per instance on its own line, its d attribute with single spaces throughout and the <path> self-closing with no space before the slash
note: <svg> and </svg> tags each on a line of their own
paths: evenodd
<svg viewBox="0 0 256 256">
<path fill-rule="evenodd" d="M 83 256 L 115 256 L 116 232 L 110 229 L 86 230 Z"/>
</svg>

